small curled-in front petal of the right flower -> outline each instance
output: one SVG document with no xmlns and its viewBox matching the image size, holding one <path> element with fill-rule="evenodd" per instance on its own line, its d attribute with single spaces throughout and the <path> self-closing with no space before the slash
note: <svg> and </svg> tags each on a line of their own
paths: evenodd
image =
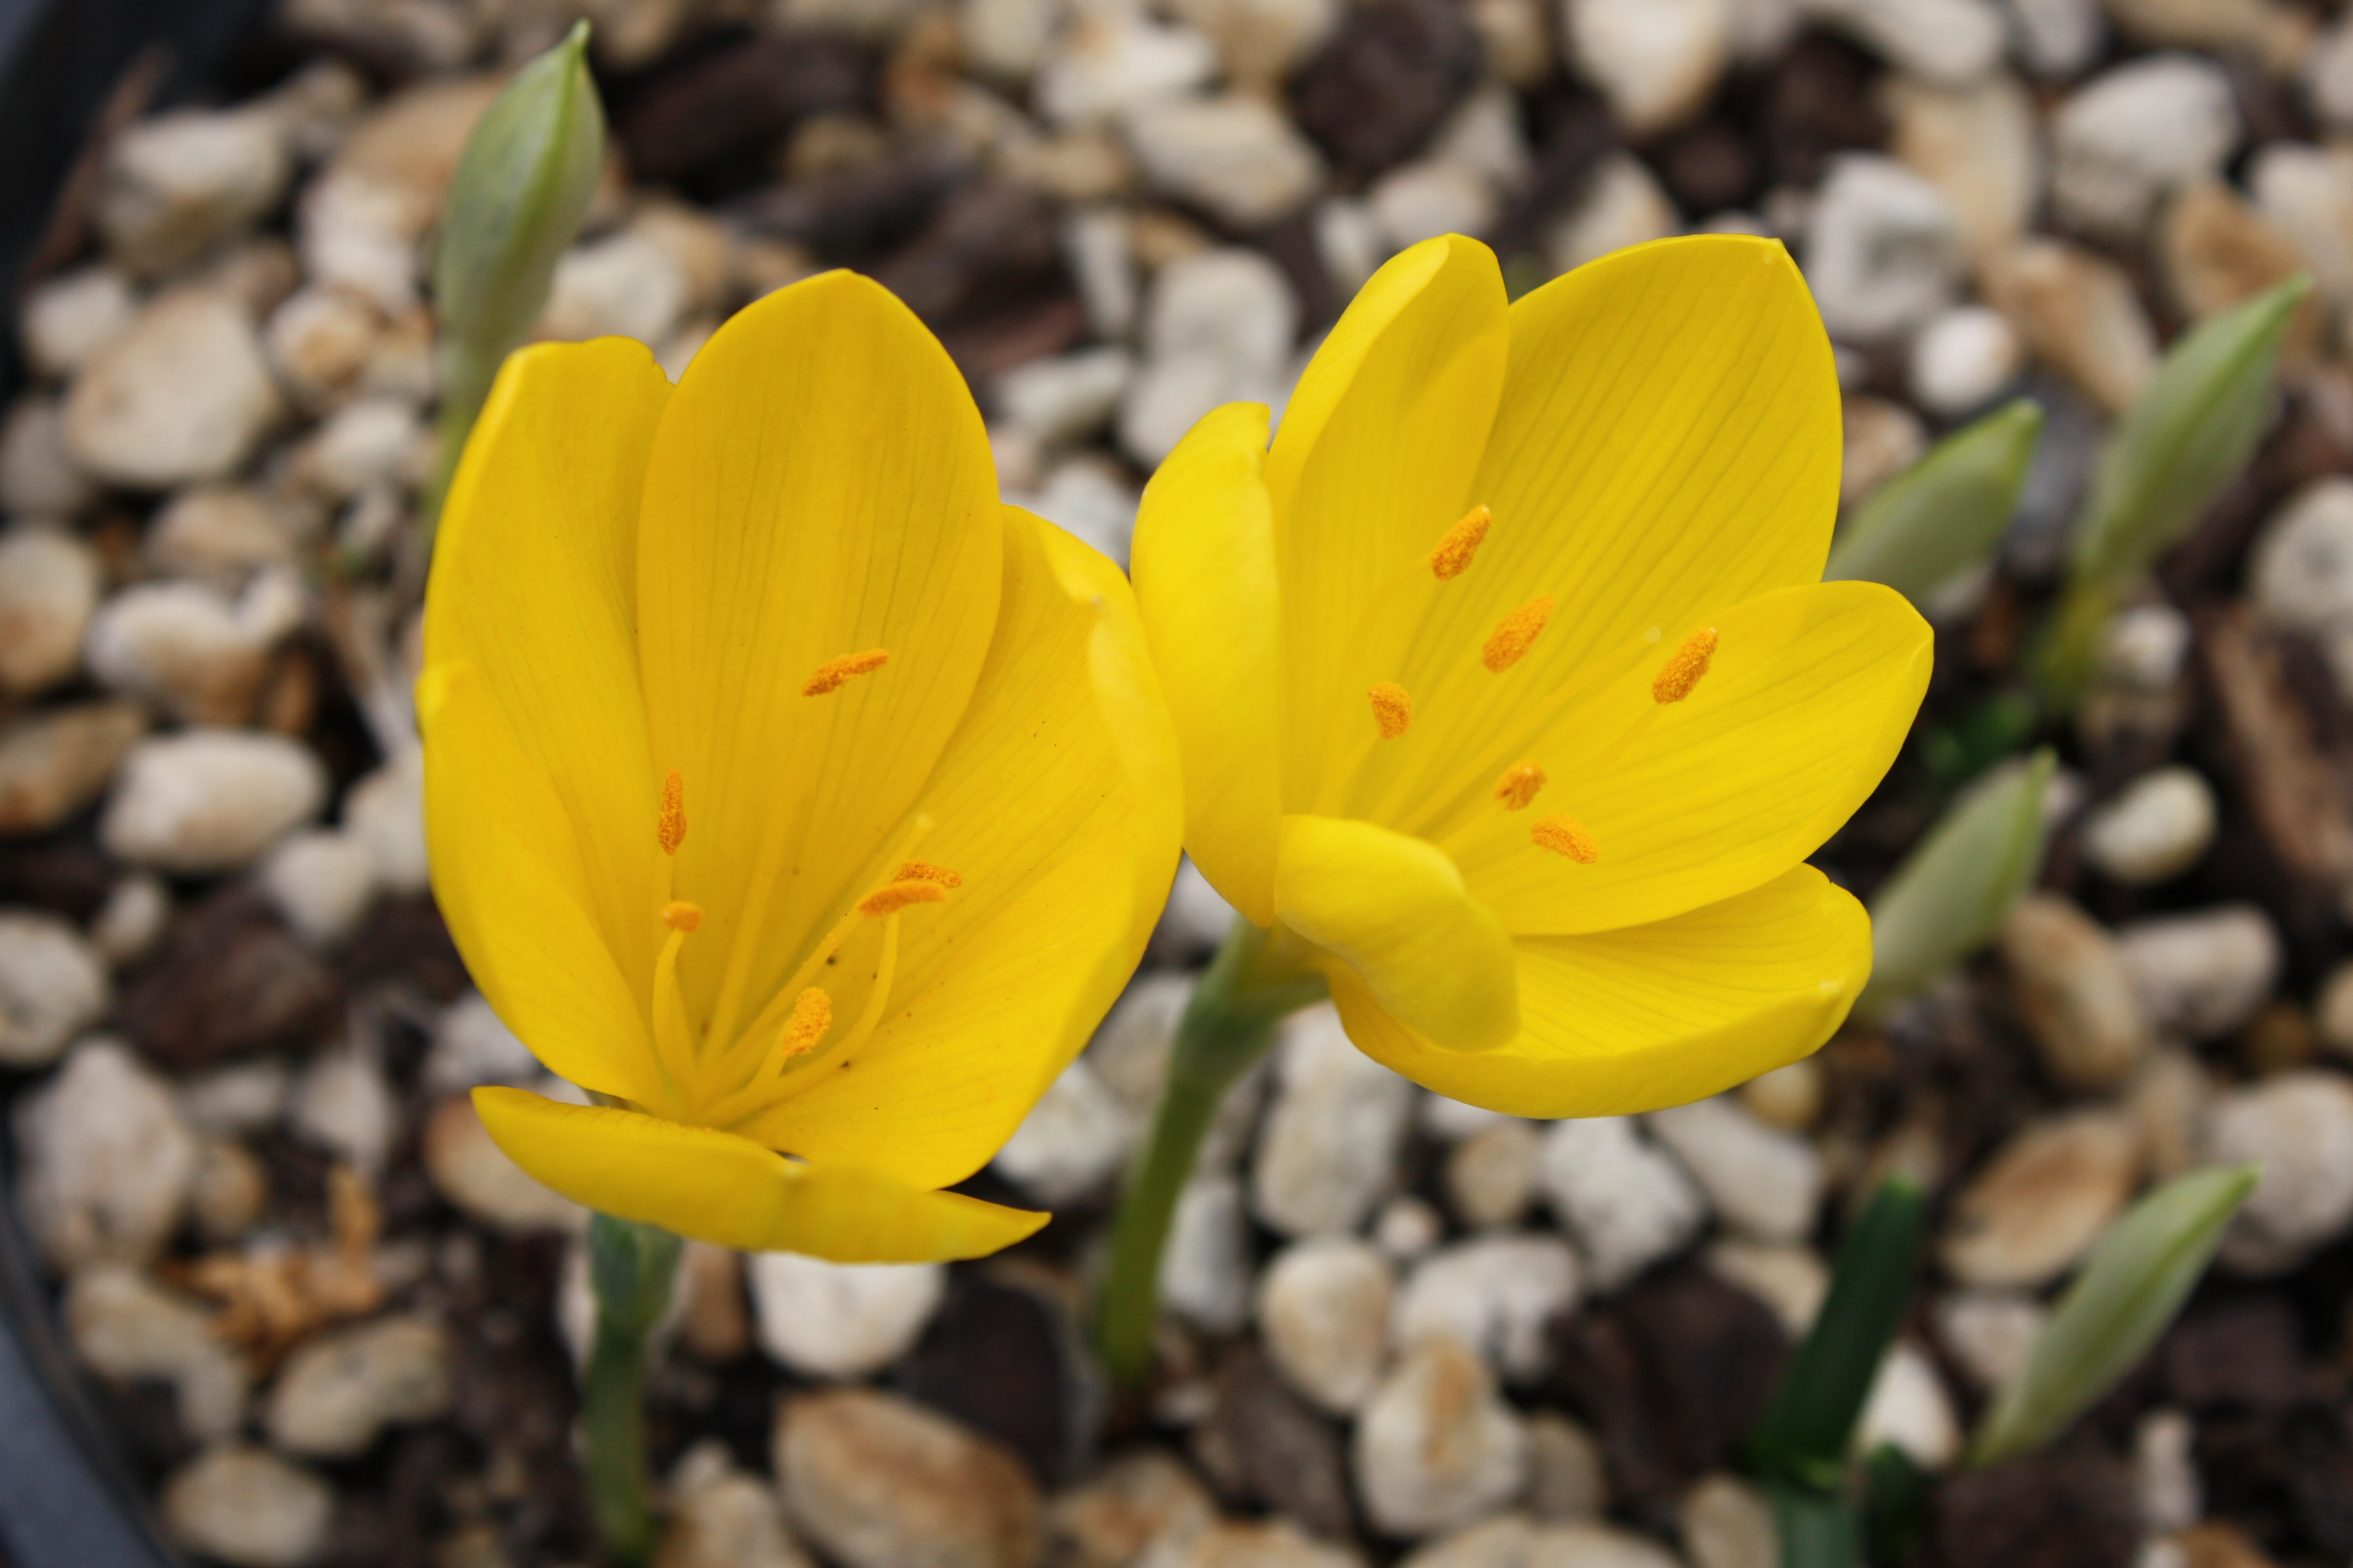
<svg viewBox="0 0 2353 1568">
<path fill-rule="evenodd" d="M 1362 976 L 1381 1009 L 1424 1039 L 1489 1051 L 1520 1027 L 1504 922 L 1421 839 L 1372 823 L 1287 816 L 1275 910 Z"/>
</svg>

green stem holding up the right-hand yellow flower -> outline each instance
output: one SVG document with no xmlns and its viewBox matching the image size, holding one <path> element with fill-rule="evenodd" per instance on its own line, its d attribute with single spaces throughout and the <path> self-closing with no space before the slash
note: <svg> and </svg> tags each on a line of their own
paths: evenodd
<svg viewBox="0 0 2353 1568">
<path fill-rule="evenodd" d="M 1193 1175 L 1193 1157 L 1219 1103 L 1266 1056 L 1275 1025 L 1322 994 L 1322 976 L 1299 964 L 1292 938 L 1271 936 L 1240 917 L 1193 987 L 1176 1025 L 1153 1131 L 1127 1175 L 1111 1229 L 1096 1340 L 1115 1382 L 1136 1385 L 1153 1366 L 1160 1253 L 1176 1215 L 1176 1194 Z"/>
</svg>

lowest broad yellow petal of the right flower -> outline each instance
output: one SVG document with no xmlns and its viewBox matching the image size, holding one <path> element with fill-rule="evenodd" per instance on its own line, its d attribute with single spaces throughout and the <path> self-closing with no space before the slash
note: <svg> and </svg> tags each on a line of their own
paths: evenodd
<svg viewBox="0 0 2353 1568">
<path fill-rule="evenodd" d="M 1701 1100 L 1826 1041 L 1871 978 L 1871 917 L 1800 865 L 1725 903 L 1598 936 L 1522 938 L 1520 1037 L 1442 1051 L 1348 976 L 1348 1039 L 1452 1100 L 1513 1117 L 1624 1117 Z"/>
</svg>

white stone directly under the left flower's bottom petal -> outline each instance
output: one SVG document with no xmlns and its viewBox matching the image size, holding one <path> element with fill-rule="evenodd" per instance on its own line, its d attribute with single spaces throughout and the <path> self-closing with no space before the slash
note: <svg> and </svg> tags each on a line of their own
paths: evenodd
<svg viewBox="0 0 2353 1568">
<path fill-rule="evenodd" d="M 948 1293 L 939 1262 L 755 1253 L 746 1276 L 760 1349 L 805 1378 L 833 1380 L 878 1373 L 913 1349 Z"/>
</svg>

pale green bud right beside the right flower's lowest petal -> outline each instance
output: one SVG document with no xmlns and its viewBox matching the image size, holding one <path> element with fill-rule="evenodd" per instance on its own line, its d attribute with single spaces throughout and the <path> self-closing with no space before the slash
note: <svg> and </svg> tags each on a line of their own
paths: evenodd
<svg viewBox="0 0 2353 1568">
<path fill-rule="evenodd" d="M 2042 870 L 2049 748 L 1977 780 L 1871 900 L 1871 985 L 1854 1009 L 1878 1016 L 1993 940 Z"/>
</svg>

